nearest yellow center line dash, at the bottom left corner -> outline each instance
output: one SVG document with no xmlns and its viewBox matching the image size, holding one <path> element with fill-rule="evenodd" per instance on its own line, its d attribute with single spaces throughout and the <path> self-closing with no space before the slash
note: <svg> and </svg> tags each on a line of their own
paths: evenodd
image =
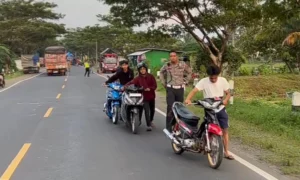
<svg viewBox="0 0 300 180">
<path fill-rule="evenodd" d="M 10 163 L 10 165 L 7 167 L 6 171 L 2 174 L 0 180 L 9 180 L 15 170 L 17 169 L 18 165 L 24 158 L 25 154 L 27 153 L 28 149 L 30 148 L 30 143 L 25 143 L 23 147 L 20 149 L 19 153 L 15 157 L 15 159 Z"/>
</svg>

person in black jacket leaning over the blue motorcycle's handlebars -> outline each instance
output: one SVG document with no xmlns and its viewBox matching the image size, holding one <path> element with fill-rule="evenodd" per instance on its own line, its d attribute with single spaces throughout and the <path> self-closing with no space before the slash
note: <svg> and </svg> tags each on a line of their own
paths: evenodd
<svg viewBox="0 0 300 180">
<path fill-rule="evenodd" d="M 121 69 L 118 70 L 113 76 L 111 76 L 104 84 L 107 85 L 116 80 L 120 81 L 120 84 L 125 85 L 130 82 L 133 78 L 133 71 L 128 66 L 128 61 L 123 60 L 119 62 Z"/>
</svg>

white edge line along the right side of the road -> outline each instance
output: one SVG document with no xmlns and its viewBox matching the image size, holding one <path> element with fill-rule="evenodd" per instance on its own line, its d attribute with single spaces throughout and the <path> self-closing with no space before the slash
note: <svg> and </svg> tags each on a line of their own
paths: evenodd
<svg viewBox="0 0 300 180">
<path fill-rule="evenodd" d="M 108 79 L 107 77 L 103 76 L 103 75 L 100 75 L 97 73 L 98 76 L 104 78 L 104 79 Z M 162 110 L 158 109 L 158 108 L 155 108 L 155 111 L 157 111 L 159 114 L 163 115 L 166 117 L 166 113 L 163 112 Z M 245 159 L 237 156 L 236 154 L 230 152 L 234 158 L 235 158 L 235 161 L 243 164 L 244 166 L 246 166 L 247 168 L 251 169 L 252 171 L 256 172 L 257 174 L 259 174 L 260 176 L 266 178 L 267 180 L 278 180 L 277 178 L 275 178 L 274 176 L 272 176 L 271 174 L 263 171 L 262 169 L 254 166 L 253 164 L 251 164 L 250 162 L 246 161 Z"/>
</svg>

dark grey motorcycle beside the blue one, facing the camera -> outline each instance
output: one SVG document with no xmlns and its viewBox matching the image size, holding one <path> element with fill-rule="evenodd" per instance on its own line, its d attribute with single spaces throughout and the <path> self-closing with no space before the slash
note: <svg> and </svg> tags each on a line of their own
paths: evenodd
<svg viewBox="0 0 300 180">
<path fill-rule="evenodd" d="M 122 95 L 121 118 L 127 127 L 131 128 L 133 134 L 138 133 L 138 127 L 141 125 L 143 113 L 143 94 L 144 88 L 134 85 L 124 89 Z"/>
</svg>

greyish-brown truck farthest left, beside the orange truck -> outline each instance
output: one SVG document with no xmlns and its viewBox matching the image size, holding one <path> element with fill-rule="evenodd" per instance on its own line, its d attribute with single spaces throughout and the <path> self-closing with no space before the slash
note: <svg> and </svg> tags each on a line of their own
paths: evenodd
<svg viewBox="0 0 300 180">
<path fill-rule="evenodd" d="M 39 56 L 38 55 L 21 55 L 21 66 L 24 74 L 39 73 Z"/>
</svg>

